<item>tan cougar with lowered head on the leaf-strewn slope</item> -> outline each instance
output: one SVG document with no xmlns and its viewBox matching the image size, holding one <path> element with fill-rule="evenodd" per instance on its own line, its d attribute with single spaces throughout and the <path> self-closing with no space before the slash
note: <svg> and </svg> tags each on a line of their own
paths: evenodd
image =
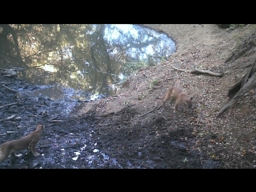
<svg viewBox="0 0 256 192">
<path fill-rule="evenodd" d="M 187 108 L 192 106 L 192 98 L 188 98 L 187 95 L 183 92 L 182 89 L 178 88 L 177 86 L 170 86 L 167 89 L 167 93 L 165 98 L 163 99 L 163 106 L 166 106 L 166 102 L 170 99 L 175 99 L 175 106 L 174 106 L 174 113 L 178 110 L 178 105 L 185 103 L 184 112 Z"/>
</svg>

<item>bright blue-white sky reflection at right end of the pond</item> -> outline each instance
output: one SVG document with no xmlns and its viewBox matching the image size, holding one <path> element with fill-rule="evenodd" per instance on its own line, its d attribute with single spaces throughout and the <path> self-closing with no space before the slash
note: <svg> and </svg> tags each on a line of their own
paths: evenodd
<svg viewBox="0 0 256 192">
<path fill-rule="evenodd" d="M 137 28 L 138 26 L 134 26 Z M 110 54 L 114 57 L 115 62 L 122 62 L 120 71 L 125 76 L 129 76 L 134 70 L 138 70 L 144 66 L 154 66 L 161 62 L 162 58 L 170 56 L 173 53 L 172 46 L 168 43 L 163 43 L 163 39 L 156 38 L 151 34 L 153 30 L 137 30 L 138 33 L 132 34 L 131 30 L 125 33 L 117 26 L 110 25 L 108 30 L 110 33 L 118 31 L 118 38 L 111 38 L 110 46 L 118 50 L 117 54 Z M 148 54 L 148 46 L 152 49 L 152 53 Z M 164 57 L 159 57 L 163 55 Z"/>
</svg>

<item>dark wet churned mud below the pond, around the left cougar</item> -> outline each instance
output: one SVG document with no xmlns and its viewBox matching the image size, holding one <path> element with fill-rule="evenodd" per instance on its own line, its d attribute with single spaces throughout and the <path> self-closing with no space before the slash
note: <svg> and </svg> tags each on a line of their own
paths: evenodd
<svg viewBox="0 0 256 192">
<path fill-rule="evenodd" d="M 1 77 L 1 82 L 14 91 L 0 87 L 1 143 L 21 138 L 37 124 L 46 129 L 36 146 L 39 157 L 28 150 L 22 157 L 7 158 L 0 168 L 217 168 L 221 163 L 205 159 L 203 152 L 194 149 L 194 113 L 175 114 L 184 121 L 177 122 L 154 116 L 149 123 L 132 122 L 133 106 L 124 106 L 118 113 L 98 116 L 92 109 L 75 117 L 74 109 L 86 102 L 53 101 L 42 96 L 30 96 L 34 86 L 17 78 Z M 34 91 L 34 90 L 33 90 Z M 75 107 L 76 106 L 76 107 Z M 169 111 L 170 112 L 170 111 Z M 34 115 L 30 116 L 30 115 Z M 21 119 L 3 120 L 11 115 Z M 62 122 L 51 122 L 62 120 Z M 202 126 L 202 125 L 201 125 Z M 8 132 L 6 131 L 13 131 Z M 78 152 L 78 153 L 76 153 Z"/>
</svg>

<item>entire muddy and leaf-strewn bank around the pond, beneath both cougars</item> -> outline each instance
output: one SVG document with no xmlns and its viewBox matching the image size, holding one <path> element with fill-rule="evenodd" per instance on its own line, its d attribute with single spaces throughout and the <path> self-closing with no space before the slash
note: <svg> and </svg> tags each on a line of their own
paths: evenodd
<svg viewBox="0 0 256 192">
<path fill-rule="evenodd" d="M 19 93 L 17 97 L 0 86 L 0 107 L 14 103 L 0 108 L 1 143 L 28 134 L 38 123 L 46 125 L 37 146 L 41 156 L 34 158 L 24 150 L 22 158 L 8 158 L 0 168 L 253 168 L 254 90 L 229 114 L 214 118 L 227 101 L 228 88 L 256 58 L 252 46 L 242 57 L 225 62 L 237 50 L 240 38 L 234 37 L 251 37 L 253 26 L 229 32 L 215 25 L 150 27 L 174 38 L 177 53 L 168 62 L 134 73 L 115 97 L 52 101 L 34 97 L 34 85 L 0 76 L 0 82 Z M 186 74 L 172 66 L 225 76 Z M 174 114 L 171 103 L 166 110 L 158 107 L 161 100 L 156 97 L 171 84 L 193 95 L 188 113 Z M 11 115 L 21 118 L 3 120 Z"/>
</svg>

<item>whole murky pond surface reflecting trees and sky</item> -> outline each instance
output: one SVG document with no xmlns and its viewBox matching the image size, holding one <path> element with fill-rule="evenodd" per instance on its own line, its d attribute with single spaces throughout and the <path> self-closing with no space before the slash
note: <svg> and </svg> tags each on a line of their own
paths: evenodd
<svg viewBox="0 0 256 192">
<path fill-rule="evenodd" d="M 133 34 L 123 33 L 110 25 L 0 24 L 0 27 L 3 29 L 0 64 L 26 65 L 22 74 L 31 79 L 30 82 L 56 83 L 98 94 L 109 94 L 106 87 L 118 81 L 118 74 L 129 75 L 144 66 L 144 62 L 134 61 L 141 60 L 149 44 L 155 52 L 149 59 L 157 57 L 161 43 L 158 38 L 142 33 L 138 33 L 134 41 Z M 106 27 L 109 27 L 109 33 L 117 30 L 121 35 L 109 42 Z"/>
</svg>

